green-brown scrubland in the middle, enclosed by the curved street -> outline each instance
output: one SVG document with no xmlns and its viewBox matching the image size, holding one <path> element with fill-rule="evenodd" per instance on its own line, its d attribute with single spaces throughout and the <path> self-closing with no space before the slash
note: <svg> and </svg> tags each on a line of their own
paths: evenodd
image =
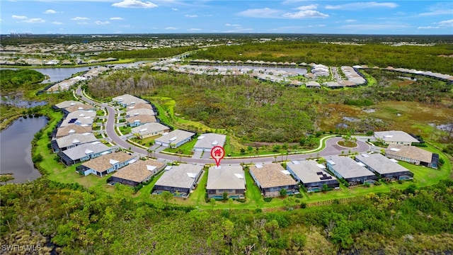
<svg viewBox="0 0 453 255">
<path fill-rule="evenodd" d="M 318 131 L 319 120 L 329 118 L 328 113 L 343 104 L 370 106 L 381 101 L 418 101 L 450 106 L 452 93 L 445 82 L 418 77 L 410 86 L 399 86 L 394 81 L 401 78 L 393 72 L 372 69 L 367 72 L 377 77 L 374 86 L 328 90 L 260 83 L 247 76 L 125 70 L 90 81 L 88 91 L 99 99 L 121 94 L 169 97 L 176 101 L 175 112 L 182 117 L 259 142 L 299 142 L 306 133 Z M 444 99 L 448 100 L 442 102 Z M 367 132 L 388 127 L 382 121 L 370 120 L 355 128 Z"/>
</svg>

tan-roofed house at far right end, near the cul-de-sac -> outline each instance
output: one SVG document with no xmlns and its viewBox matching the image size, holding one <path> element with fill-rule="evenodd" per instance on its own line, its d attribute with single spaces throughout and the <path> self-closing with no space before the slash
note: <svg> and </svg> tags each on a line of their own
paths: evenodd
<svg viewBox="0 0 453 255">
<path fill-rule="evenodd" d="M 439 165 L 439 154 L 428 152 L 415 146 L 389 145 L 385 151 L 385 156 L 434 169 L 437 169 Z"/>
</svg>

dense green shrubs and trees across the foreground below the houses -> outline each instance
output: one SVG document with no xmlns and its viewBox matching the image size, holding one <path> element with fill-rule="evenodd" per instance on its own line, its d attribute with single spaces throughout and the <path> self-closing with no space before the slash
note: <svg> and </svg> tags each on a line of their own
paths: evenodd
<svg viewBox="0 0 453 255">
<path fill-rule="evenodd" d="M 439 254 L 453 249 L 453 181 L 285 210 L 199 210 L 76 184 L 0 187 L 1 244 L 64 254 Z M 215 208 L 213 208 L 215 209 Z M 48 253 L 47 253 L 48 254 Z"/>
</svg>

